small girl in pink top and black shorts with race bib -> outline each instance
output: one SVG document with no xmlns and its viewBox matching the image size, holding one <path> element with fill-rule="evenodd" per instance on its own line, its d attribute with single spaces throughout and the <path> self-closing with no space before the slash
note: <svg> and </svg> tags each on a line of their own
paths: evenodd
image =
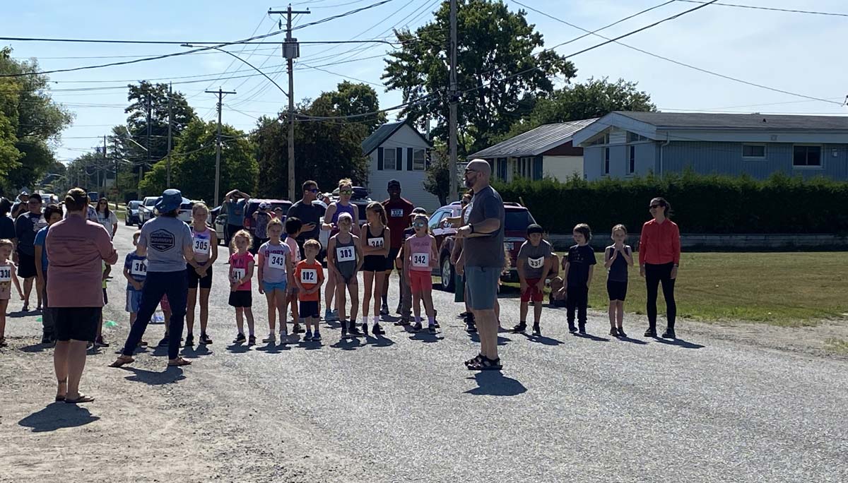
<svg viewBox="0 0 848 483">
<path fill-rule="evenodd" d="M 248 252 L 253 243 L 248 230 L 238 230 L 232 236 L 232 255 L 230 255 L 230 306 L 236 308 L 236 326 L 238 334 L 232 341 L 235 344 L 253 346 L 256 343 L 254 334 L 253 287 L 250 280 L 254 276 L 254 254 Z M 244 337 L 244 318 L 248 319 L 249 338 Z"/>
</svg>

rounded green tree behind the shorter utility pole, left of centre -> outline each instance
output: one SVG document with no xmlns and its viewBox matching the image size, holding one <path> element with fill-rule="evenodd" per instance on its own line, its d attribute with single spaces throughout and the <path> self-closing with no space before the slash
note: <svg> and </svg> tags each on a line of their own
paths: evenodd
<svg viewBox="0 0 848 483">
<path fill-rule="evenodd" d="M 215 139 L 217 124 L 192 120 L 176 142 L 171 159 L 171 185 L 178 186 L 182 196 L 215 200 Z M 230 125 L 221 127 L 220 197 L 232 188 L 252 192 L 256 187 L 259 166 L 255 147 L 241 130 Z M 139 196 L 161 193 L 165 186 L 166 161 L 153 164 L 142 180 Z"/>
</svg>

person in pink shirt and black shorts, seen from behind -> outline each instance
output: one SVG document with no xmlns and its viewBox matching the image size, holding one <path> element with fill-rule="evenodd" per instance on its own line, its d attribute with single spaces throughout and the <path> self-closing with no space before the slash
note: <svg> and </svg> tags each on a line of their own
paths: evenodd
<svg viewBox="0 0 848 483">
<path fill-rule="evenodd" d="M 97 335 L 103 310 L 103 261 L 113 265 L 118 253 L 103 225 L 86 219 L 85 191 L 70 190 L 64 206 L 68 218 L 47 230 L 44 243 L 51 262 L 47 297 L 55 309 L 56 401 L 92 402 L 93 397 L 80 392 L 86 345 Z"/>
</svg>

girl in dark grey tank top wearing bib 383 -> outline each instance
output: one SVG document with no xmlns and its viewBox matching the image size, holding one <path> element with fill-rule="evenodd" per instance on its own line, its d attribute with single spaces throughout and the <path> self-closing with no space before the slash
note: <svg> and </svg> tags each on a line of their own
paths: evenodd
<svg viewBox="0 0 848 483">
<path fill-rule="evenodd" d="M 354 225 L 354 217 L 348 213 L 338 216 L 338 235 L 332 236 L 326 248 L 326 266 L 335 277 L 336 283 L 336 306 L 338 307 L 338 319 L 342 323 L 342 337 L 347 338 L 348 332 L 351 336 L 361 336 L 362 332 L 356 328 L 356 315 L 360 309 L 359 281 L 356 272 L 362 267 L 362 248 L 360 238 L 350 232 Z M 350 320 L 345 317 L 344 289 L 350 293 Z M 327 286 L 326 290 L 331 290 Z"/>
</svg>

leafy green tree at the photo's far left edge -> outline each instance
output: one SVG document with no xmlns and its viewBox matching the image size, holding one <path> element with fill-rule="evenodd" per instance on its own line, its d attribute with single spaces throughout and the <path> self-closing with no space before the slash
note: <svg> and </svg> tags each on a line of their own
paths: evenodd
<svg viewBox="0 0 848 483">
<path fill-rule="evenodd" d="M 55 160 L 50 143 L 58 141 L 62 130 L 73 120 L 70 112 L 50 97 L 47 75 L 34 74 L 39 71 L 38 62 L 17 61 L 11 54 L 9 47 L 0 49 L 0 74 L 18 75 L 13 78 L 14 85 L 4 83 L 3 89 L 17 97 L 17 119 L 11 122 L 15 129 L 14 147 L 21 156 L 8 175 L 0 179 L 6 190 L 31 185 L 44 175 Z"/>
</svg>

